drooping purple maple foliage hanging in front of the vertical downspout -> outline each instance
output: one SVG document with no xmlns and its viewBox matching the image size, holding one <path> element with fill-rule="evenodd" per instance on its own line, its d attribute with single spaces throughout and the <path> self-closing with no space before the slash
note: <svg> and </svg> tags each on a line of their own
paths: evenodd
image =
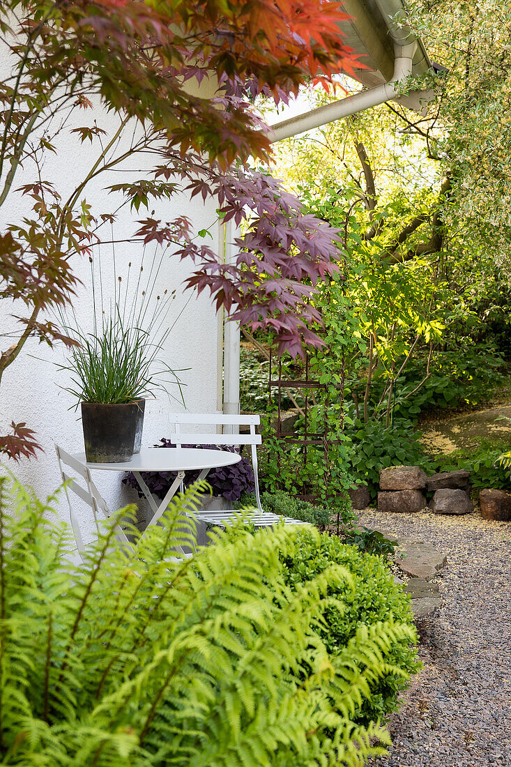
<svg viewBox="0 0 511 767">
<path fill-rule="evenodd" d="M 216 307 L 224 306 L 233 320 L 272 333 L 279 354 L 287 351 L 296 357 L 306 345 L 321 346 L 315 332 L 321 328 L 321 314 L 309 299 L 318 281 L 338 271 L 338 230 L 305 213 L 302 203 L 271 176 L 250 169 L 206 167 L 192 153 L 187 160 L 184 167 L 176 151 L 169 149 L 166 166 L 154 172 L 153 192 L 162 183 L 160 176 L 180 176 L 190 196 L 219 200 L 224 222 L 248 221 L 245 235 L 235 239 L 234 263 L 225 264 L 223 254 L 199 244 L 186 216 L 173 222 L 144 219 L 137 237 L 146 244 L 180 242 L 175 255 L 195 264 L 185 285 L 199 293 L 209 291 Z"/>
</svg>

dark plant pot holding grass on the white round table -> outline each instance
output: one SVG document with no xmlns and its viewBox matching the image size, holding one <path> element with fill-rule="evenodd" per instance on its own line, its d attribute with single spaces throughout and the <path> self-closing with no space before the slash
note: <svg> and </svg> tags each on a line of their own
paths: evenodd
<svg viewBox="0 0 511 767">
<path fill-rule="evenodd" d="M 121 463 L 133 458 L 140 403 L 81 403 L 85 456 L 91 463 Z M 140 434 L 141 436 L 141 434 Z"/>
</svg>

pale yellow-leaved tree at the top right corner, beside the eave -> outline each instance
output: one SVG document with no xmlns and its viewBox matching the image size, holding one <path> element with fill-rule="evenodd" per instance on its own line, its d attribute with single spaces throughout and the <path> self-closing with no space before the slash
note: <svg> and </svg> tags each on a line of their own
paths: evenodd
<svg viewBox="0 0 511 767">
<path fill-rule="evenodd" d="M 434 78 L 430 120 L 410 120 L 410 130 L 426 133 L 447 179 L 443 219 L 509 271 L 511 8 L 491 0 L 414 0 L 410 23 L 446 70 Z"/>
</svg>

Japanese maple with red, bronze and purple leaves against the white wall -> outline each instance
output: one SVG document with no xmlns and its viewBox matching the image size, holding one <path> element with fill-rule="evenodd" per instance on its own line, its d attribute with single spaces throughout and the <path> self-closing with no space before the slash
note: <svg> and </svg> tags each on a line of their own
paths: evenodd
<svg viewBox="0 0 511 767">
<path fill-rule="evenodd" d="M 11 67 L 0 82 L 0 211 L 15 194 L 33 200 L 29 216 L 2 217 L 0 297 L 14 308 L 12 327 L 2 329 L 0 382 L 29 337 L 71 344 L 48 310 L 73 300 L 73 259 L 101 242 L 120 207 L 137 213 L 183 192 L 216 196 L 226 221 L 251 219 L 237 240 L 236 263 L 223 265 L 213 249 L 197 245 L 186 216 L 141 217 L 134 239 L 172 245 L 178 257 L 192 258 L 188 284 L 208 288 L 216 305 L 242 323 L 271 328 L 281 351 L 298 354 L 303 343 L 320 343 L 312 330 L 320 318 L 305 299 L 335 268 L 337 235 L 303 216 L 275 180 L 249 170 L 249 157 L 266 160 L 269 153 L 250 103 L 261 93 L 285 100 L 310 78 L 328 84 L 332 74 L 350 71 L 354 56 L 338 27 L 343 18 L 330 0 L 0 2 Z M 211 77 L 216 94 L 206 98 L 197 86 Z M 76 127 L 74 114 L 93 103 L 97 120 Z M 101 117 L 112 111 L 117 128 L 110 114 L 105 130 Z M 46 177 L 45 159 L 63 151 L 61 137 L 70 131 L 97 146 L 97 156 L 66 196 Z M 156 158 L 152 172 L 137 180 L 121 175 L 108 187 L 119 198 L 114 208 L 95 210 L 87 185 L 104 175 L 107 186 L 110 170 L 148 152 Z M 0 453 L 15 459 L 36 448 L 25 423 L 12 423 L 12 433 L 0 436 Z"/>
</svg>

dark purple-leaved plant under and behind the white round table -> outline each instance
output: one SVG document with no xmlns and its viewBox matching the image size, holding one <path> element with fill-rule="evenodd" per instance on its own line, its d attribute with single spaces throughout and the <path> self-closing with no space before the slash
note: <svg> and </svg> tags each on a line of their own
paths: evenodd
<svg viewBox="0 0 511 767">
<path fill-rule="evenodd" d="M 170 442 L 170 439 L 165 439 L 164 437 L 160 439 L 160 442 L 161 445 L 155 445 L 155 447 L 176 447 Z M 222 449 L 229 450 L 231 453 L 239 453 L 239 450 L 234 447 L 222 446 L 220 448 L 218 445 L 183 445 L 183 447 L 203 447 L 209 450 Z M 186 484 L 191 485 L 192 482 L 195 482 L 199 478 L 199 473 L 186 472 Z M 141 472 L 141 475 L 150 492 L 160 500 L 165 497 L 167 490 L 172 485 L 174 479 L 176 479 L 176 472 Z M 223 495 L 224 498 L 232 502 L 238 502 L 244 492 L 253 493 L 255 491 L 252 464 L 246 458 L 242 458 L 241 461 L 233 466 L 211 469 L 206 479 L 213 489 L 213 495 Z M 123 482 L 128 487 L 137 490 L 140 498 L 143 497 L 143 492 L 140 490 L 132 472 L 129 472 L 124 477 Z"/>
</svg>

